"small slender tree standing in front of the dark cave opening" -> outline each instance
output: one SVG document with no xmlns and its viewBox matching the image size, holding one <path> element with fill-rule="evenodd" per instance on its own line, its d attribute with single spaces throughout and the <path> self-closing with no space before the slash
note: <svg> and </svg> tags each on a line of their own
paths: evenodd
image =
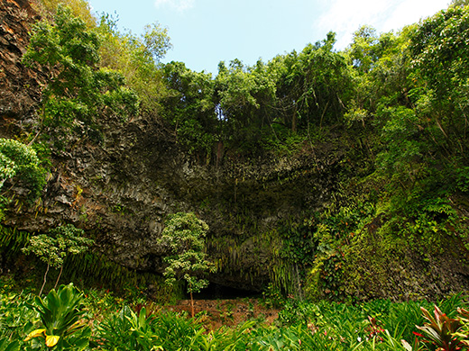
<svg viewBox="0 0 469 351">
<path fill-rule="evenodd" d="M 160 242 L 170 248 L 164 262 L 168 264 L 164 271 L 167 284 L 174 284 L 179 279 L 187 283 L 190 294 L 191 315 L 194 317 L 194 298 L 192 293 L 199 293 L 207 287 L 207 279 L 201 275 L 214 272 L 215 266 L 209 262 L 205 253 L 204 238 L 208 226 L 192 212 L 176 213 L 166 221 Z"/>
</svg>

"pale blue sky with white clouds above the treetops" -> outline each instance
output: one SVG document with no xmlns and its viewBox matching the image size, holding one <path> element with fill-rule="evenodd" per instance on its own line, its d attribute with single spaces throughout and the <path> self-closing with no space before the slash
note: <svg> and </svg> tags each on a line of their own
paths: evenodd
<svg viewBox="0 0 469 351">
<path fill-rule="evenodd" d="M 361 25 L 399 30 L 447 7 L 450 0 L 88 0 L 94 12 L 119 16 L 121 29 L 167 27 L 173 49 L 163 62 L 182 61 L 216 74 L 219 61 L 246 65 L 301 50 L 336 31 L 344 49 Z"/>
</svg>

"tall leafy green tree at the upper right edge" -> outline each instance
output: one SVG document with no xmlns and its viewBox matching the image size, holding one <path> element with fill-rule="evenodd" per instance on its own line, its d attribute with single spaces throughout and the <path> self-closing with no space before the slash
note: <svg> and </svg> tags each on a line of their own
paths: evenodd
<svg viewBox="0 0 469 351">
<path fill-rule="evenodd" d="M 469 7 L 449 7 L 410 36 L 417 68 L 418 110 L 438 152 L 467 162 L 469 121 Z M 423 121 L 422 121 L 423 122 Z"/>
</svg>

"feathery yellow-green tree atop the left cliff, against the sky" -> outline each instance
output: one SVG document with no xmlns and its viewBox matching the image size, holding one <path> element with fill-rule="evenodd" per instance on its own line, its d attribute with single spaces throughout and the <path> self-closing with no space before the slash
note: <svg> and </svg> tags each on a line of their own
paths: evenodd
<svg viewBox="0 0 469 351">
<path fill-rule="evenodd" d="M 53 21 L 60 11 L 60 6 L 70 8 L 71 14 L 86 24 L 87 31 L 97 34 L 99 39 L 99 62 L 91 65 L 95 70 L 98 67 L 119 72 L 124 76 L 126 86 L 138 94 L 142 102 L 139 111 L 154 112 L 160 108 L 159 99 L 165 93 L 159 69 L 160 60 L 171 48 L 168 30 L 159 23 L 144 26 L 143 35 L 136 36 L 130 31 L 117 30 L 117 20 L 109 14 L 102 14 L 96 18 L 92 14 L 89 4 L 84 0 L 41 0 L 39 12 L 42 18 Z M 97 94 L 105 93 L 99 91 Z M 110 91 L 115 89 L 110 86 Z M 135 96 L 127 89 L 115 89 L 115 96 L 109 96 L 105 103 L 113 105 L 113 111 L 105 108 L 101 111 L 105 115 L 113 113 L 121 119 L 128 117 L 132 112 Z M 130 97 L 130 99 L 129 99 Z M 119 104 L 124 104 L 123 111 L 119 111 Z M 72 109 L 73 106 L 69 106 Z M 97 108 L 99 112 L 99 108 Z M 134 113 L 136 114 L 136 113 Z M 91 133 L 91 131 L 89 131 Z"/>
</svg>

